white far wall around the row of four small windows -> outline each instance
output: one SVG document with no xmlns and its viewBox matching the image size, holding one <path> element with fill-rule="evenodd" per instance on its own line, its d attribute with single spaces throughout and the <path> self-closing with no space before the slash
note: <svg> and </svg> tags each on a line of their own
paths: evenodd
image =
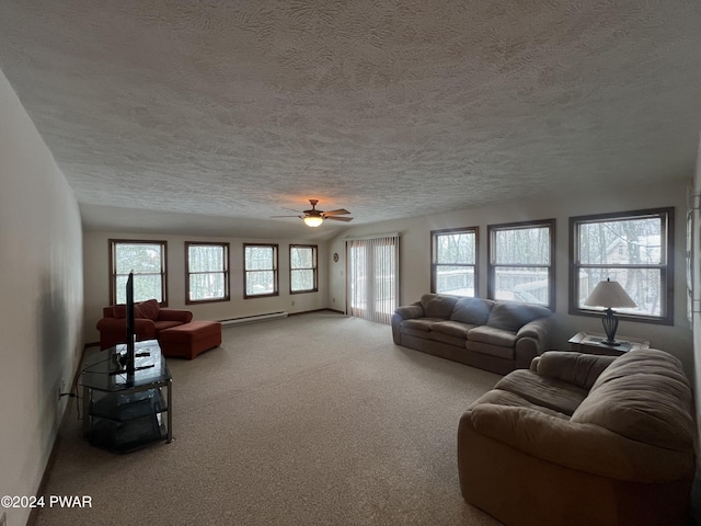
<svg viewBox="0 0 701 526">
<path fill-rule="evenodd" d="M 85 318 L 84 335 L 87 342 L 100 341 L 95 329 L 102 318 L 102 309 L 110 305 L 110 239 L 147 239 L 168 243 L 168 306 L 173 309 L 193 311 L 195 320 L 223 320 L 242 316 L 287 311 L 306 312 L 326 307 L 326 245 L 325 242 L 275 239 L 205 238 L 173 235 L 134 235 L 127 232 L 83 233 Z M 185 242 L 212 241 L 227 242 L 230 249 L 231 300 L 203 305 L 185 304 Z M 243 243 L 277 243 L 279 261 L 279 296 L 243 299 Z M 319 245 L 319 291 L 289 294 L 289 245 Z M 292 305 L 292 301 L 295 305 Z"/>
</svg>

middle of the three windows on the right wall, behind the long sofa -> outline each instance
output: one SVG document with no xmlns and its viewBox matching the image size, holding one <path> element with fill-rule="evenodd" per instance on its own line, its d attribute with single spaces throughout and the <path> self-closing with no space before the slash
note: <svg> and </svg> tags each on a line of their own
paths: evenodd
<svg viewBox="0 0 701 526">
<path fill-rule="evenodd" d="M 555 308 L 555 220 L 490 225 L 490 299 Z"/>
</svg>

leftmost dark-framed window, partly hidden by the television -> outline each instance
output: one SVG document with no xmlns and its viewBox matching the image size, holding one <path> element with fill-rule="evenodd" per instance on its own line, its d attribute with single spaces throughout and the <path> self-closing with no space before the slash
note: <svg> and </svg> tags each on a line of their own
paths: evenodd
<svg viewBox="0 0 701 526">
<path fill-rule="evenodd" d="M 110 240 L 110 304 L 126 302 L 126 284 L 134 272 L 134 300 L 157 299 L 165 307 L 165 241 Z"/>
</svg>

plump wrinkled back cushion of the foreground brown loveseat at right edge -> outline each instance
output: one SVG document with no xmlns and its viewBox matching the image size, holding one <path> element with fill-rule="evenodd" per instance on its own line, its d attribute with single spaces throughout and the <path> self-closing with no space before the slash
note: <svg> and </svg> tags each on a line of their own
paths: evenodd
<svg viewBox="0 0 701 526">
<path fill-rule="evenodd" d="M 632 351 L 601 373 L 572 422 L 688 451 L 693 449 L 691 404 L 691 387 L 676 357 L 655 348 Z"/>
</svg>

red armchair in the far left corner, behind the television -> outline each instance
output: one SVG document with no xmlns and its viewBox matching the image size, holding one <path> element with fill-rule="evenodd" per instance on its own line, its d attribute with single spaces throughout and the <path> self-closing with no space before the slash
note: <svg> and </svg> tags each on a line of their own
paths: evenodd
<svg viewBox="0 0 701 526">
<path fill-rule="evenodd" d="M 193 319 L 189 310 L 162 309 L 156 299 L 140 301 L 134 306 L 136 339 L 158 340 L 161 331 L 188 323 Z M 97 321 L 100 348 L 126 343 L 126 306 L 113 305 L 103 309 L 103 318 Z"/>
</svg>

